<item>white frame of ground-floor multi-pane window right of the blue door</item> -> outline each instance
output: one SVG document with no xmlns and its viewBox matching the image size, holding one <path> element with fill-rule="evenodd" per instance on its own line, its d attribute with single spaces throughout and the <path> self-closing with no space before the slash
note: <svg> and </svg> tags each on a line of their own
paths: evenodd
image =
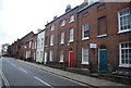
<svg viewBox="0 0 131 88">
<path fill-rule="evenodd" d="M 122 49 L 131 49 L 131 48 L 121 48 L 121 45 L 122 45 L 122 43 L 123 43 L 123 45 L 124 45 L 124 43 L 129 43 L 129 42 L 131 43 L 131 41 L 120 42 L 120 43 L 119 43 L 119 66 L 120 66 L 120 67 L 131 67 L 131 64 L 122 63 L 122 58 L 121 58 L 121 53 L 122 53 L 121 50 L 122 50 Z M 129 56 L 129 54 L 128 54 L 128 56 Z"/>
</svg>

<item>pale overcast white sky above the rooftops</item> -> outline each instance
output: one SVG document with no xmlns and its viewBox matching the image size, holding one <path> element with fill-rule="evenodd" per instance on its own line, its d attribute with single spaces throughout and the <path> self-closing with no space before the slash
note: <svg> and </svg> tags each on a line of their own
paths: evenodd
<svg viewBox="0 0 131 88">
<path fill-rule="evenodd" d="M 84 0 L 0 0 L 0 46 L 12 43 L 29 32 L 44 29 L 53 16 L 64 13 L 68 4 L 80 5 Z"/>
</svg>

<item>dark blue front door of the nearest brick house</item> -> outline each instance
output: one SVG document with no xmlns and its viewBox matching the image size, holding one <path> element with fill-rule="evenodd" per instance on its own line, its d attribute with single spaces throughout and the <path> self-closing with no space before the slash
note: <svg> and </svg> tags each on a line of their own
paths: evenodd
<svg viewBox="0 0 131 88">
<path fill-rule="evenodd" d="M 107 72 L 107 50 L 99 50 L 99 72 Z"/>
</svg>

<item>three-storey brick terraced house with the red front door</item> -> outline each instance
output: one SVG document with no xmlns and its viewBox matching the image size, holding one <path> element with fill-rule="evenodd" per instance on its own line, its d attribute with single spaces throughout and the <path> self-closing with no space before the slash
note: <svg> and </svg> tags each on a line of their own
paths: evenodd
<svg viewBox="0 0 131 88">
<path fill-rule="evenodd" d="M 48 63 L 75 65 L 78 9 L 68 4 L 66 13 L 46 25 L 45 58 Z"/>
</svg>

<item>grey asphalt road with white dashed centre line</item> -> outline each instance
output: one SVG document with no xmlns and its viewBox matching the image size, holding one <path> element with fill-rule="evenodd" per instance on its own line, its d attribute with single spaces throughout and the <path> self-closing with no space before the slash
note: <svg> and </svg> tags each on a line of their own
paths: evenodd
<svg viewBox="0 0 131 88">
<path fill-rule="evenodd" d="M 1 58 L 3 81 L 9 88 L 87 88 L 19 60 Z"/>
</svg>

